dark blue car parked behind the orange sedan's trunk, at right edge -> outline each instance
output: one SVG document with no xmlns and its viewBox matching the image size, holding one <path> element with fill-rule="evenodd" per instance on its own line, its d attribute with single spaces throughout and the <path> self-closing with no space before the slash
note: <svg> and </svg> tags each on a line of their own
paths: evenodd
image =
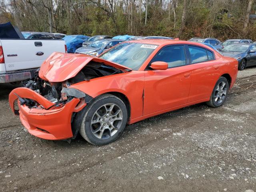
<svg viewBox="0 0 256 192">
<path fill-rule="evenodd" d="M 256 65 L 256 44 L 230 44 L 220 50 L 226 57 L 238 60 L 238 70 L 244 70 L 248 66 Z"/>
</svg>

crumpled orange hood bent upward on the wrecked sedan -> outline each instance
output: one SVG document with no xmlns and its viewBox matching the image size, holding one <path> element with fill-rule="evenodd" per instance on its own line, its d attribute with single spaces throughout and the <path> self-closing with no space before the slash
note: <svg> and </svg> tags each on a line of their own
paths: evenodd
<svg viewBox="0 0 256 192">
<path fill-rule="evenodd" d="M 49 82 L 63 82 L 76 76 L 90 61 L 104 63 L 120 70 L 131 70 L 128 67 L 97 57 L 54 52 L 43 62 L 39 76 Z"/>
</svg>

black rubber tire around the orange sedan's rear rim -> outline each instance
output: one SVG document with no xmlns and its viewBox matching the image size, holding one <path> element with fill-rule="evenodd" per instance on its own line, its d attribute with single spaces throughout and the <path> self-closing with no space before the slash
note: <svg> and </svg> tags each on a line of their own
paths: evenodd
<svg viewBox="0 0 256 192">
<path fill-rule="evenodd" d="M 218 92 L 218 86 L 220 87 L 220 84 L 226 84 L 226 94 L 225 96 L 223 96 L 223 98 L 221 100 L 218 100 L 216 101 L 216 95 L 217 92 Z M 217 108 L 217 107 L 220 107 L 224 104 L 224 102 L 226 101 L 226 98 L 228 96 L 228 90 L 229 90 L 229 84 L 228 84 L 228 80 L 225 78 L 225 77 L 220 77 L 219 80 L 216 82 L 215 86 L 214 86 L 214 89 L 212 91 L 212 94 L 211 94 L 211 97 L 210 97 L 210 101 L 206 102 L 206 104 L 208 106 L 211 106 L 211 107 L 214 107 L 214 108 Z"/>
</svg>

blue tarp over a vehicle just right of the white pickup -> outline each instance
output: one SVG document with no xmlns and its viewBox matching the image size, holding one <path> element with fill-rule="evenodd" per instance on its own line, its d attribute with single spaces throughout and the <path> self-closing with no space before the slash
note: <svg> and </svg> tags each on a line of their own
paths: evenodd
<svg viewBox="0 0 256 192">
<path fill-rule="evenodd" d="M 82 47 L 83 42 L 89 38 L 90 37 L 85 35 L 67 35 L 62 39 L 65 40 L 68 53 L 74 53 L 76 49 Z"/>
</svg>

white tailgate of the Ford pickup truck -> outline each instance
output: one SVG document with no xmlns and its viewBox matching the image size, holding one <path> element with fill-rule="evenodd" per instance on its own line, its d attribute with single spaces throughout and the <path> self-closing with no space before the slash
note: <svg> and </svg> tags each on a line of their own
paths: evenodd
<svg viewBox="0 0 256 192">
<path fill-rule="evenodd" d="M 64 40 L 0 39 L 6 72 L 38 68 L 53 52 L 65 52 Z"/>
</svg>

